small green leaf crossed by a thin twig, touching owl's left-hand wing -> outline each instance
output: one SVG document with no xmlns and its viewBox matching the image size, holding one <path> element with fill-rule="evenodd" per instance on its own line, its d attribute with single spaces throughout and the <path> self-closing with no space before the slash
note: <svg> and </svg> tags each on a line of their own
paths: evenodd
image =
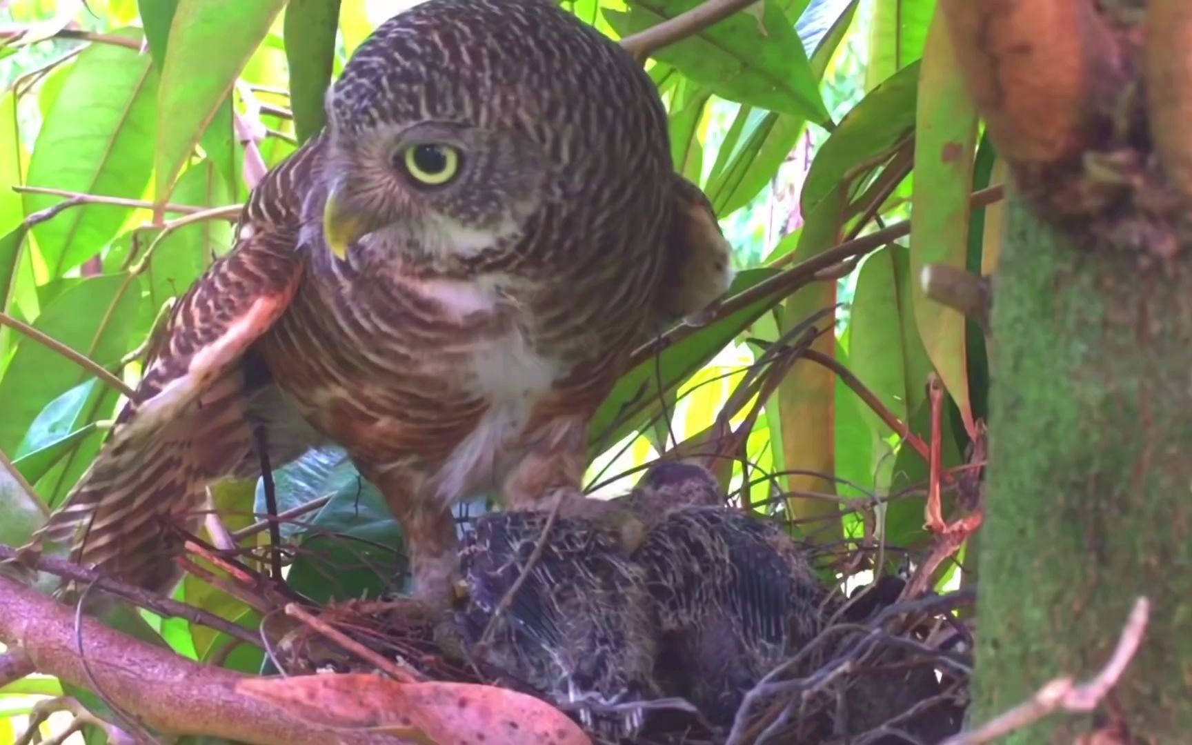
<svg viewBox="0 0 1192 745">
<path fill-rule="evenodd" d="M 231 203 L 223 174 L 215 163 L 203 160 L 186 169 L 178 180 L 174 198 L 181 204 L 216 207 Z M 149 302 L 154 308 L 181 296 L 203 274 L 217 255 L 232 244 L 231 225 L 225 221 L 203 221 L 174 230 L 153 247 L 149 256 Z"/>
</svg>

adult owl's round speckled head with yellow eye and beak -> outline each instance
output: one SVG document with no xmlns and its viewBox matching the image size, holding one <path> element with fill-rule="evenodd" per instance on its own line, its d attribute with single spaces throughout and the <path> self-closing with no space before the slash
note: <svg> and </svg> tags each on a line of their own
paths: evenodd
<svg viewBox="0 0 1192 745">
<path fill-rule="evenodd" d="M 379 26 L 328 93 L 327 243 L 442 266 L 523 259 L 560 223 L 583 231 L 559 205 L 596 212 L 590 185 L 610 190 L 596 207 L 632 194 L 632 150 L 665 137 L 652 106 L 640 68 L 553 2 L 423 2 Z M 648 145 L 622 136 L 651 129 Z"/>
</svg>

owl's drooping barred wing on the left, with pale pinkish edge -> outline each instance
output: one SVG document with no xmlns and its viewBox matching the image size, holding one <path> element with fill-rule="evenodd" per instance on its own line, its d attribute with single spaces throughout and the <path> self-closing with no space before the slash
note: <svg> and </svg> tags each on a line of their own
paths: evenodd
<svg viewBox="0 0 1192 745">
<path fill-rule="evenodd" d="M 285 312 L 302 279 L 296 170 L 310 149 L 266 175 L 232 252 L 182 296 L 155 334 L 145 374 L 91 467 L 20 550 L 66 544 L 73 561 L 166 591 L 181 532 L 203 519 L 206 486 L 252 453 L 246 353 Z"/>
</svg>

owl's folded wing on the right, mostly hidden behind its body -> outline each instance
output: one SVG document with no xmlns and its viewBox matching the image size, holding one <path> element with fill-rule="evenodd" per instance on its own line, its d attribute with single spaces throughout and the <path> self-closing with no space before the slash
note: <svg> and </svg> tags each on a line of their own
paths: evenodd
<svg viewBox="0 0 1192 745">
<path fill-rule="evenodd" d="M 703 311 L 714 309 L 733 281 L 732 246 L 699 186 L 672 174 L 670 200 L 671 221 L 654 316 L 663 324 L 679 319 L 699 324 Z"/>
</svg>

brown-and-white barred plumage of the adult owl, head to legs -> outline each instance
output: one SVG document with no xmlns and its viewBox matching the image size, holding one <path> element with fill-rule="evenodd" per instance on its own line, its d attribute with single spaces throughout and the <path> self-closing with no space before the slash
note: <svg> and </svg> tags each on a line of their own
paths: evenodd
<svg viewBox="0 0 1192 745">
<path fill-rule="evenodd" d="M 418 594 L 441 604 L 449 505 L 493 488 L 585 509 L 586 421 L 627 353 L 727 284 L 650 79 L 553 2 L 406 11 L 356 50 L 328 113 L 254 191 L 236 249 L 179 303 L 51 519 L 44 535 L 75 558 L 169 584 L 173 527 L 197 527 L 182 515 L 212 480 L 253 472 L 263 426 L 274 465 L 321 440 L 348 449 L 403 523 Z M 423 143 L 460 154 L 452 180 L 399 167 Z M 353 226 L 342 259 L 331 213 Z M 720 273 L 685 292 L 696 261 Z"/>
</svg>

